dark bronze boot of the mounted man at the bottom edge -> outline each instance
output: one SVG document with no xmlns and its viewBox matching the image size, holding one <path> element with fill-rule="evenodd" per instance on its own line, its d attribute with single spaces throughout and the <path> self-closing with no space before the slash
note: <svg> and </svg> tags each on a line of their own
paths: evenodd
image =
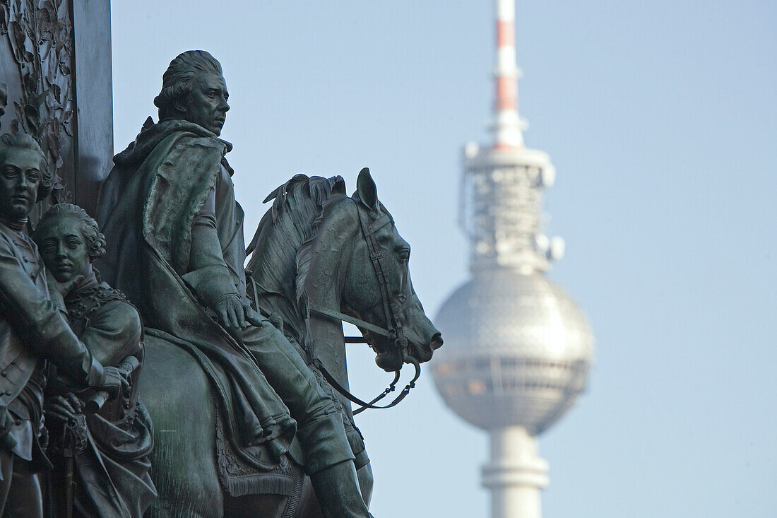
<svg viewBox="0 0 777 518">
<path fill-rule="evenodd" d="M 361 498 L 353 461 L 346 460 L 311 474 L 310 480 L 325 518 L 371 518 Z"/>
</svg>

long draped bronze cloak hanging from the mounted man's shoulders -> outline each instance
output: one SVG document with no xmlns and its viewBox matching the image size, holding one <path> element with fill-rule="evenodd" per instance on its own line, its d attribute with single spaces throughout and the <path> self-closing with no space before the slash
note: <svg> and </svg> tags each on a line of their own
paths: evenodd
<svg viewBox="0 0 777 518">
<path fill-rule="evenodd" d="M 296 423 L 256 366 L 251 352 L 235 341 L 199 302 L 197 294 L 225 292 L 209 283 L 228 281 L 232 292 L 245 282 L 242 209 L 221 207 L 219 264 L 193 269 L 192 226 L 218 176 L 231 172 L 228 142 L 187 121 L 147 121 L 113 161 L 101 193 L 98 220 L 107 254 L 99 271 L 138 306 L 146 334 L 190 352 L 211 380 L 218 408 L 235 450 L 256 467 L 267 468 L 287 451 Z M 217 201 L 218 202 L 218 201 Z M 226 270 L 225 270 L 226 269 Z M 209 290 L 210 288 L 210 290 Z M 242 287 L 242 292 L 245 288 Z M 227 291 L 228 292 L 228 291 Z M 185 390 L 185 387 L 182 387 Z M 267 446 L 266 449 L 256 445 Z"/>
</svg>

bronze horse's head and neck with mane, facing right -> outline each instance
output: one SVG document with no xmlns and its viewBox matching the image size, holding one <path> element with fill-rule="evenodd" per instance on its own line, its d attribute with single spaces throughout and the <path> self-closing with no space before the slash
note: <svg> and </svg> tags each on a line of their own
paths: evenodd
<svg viewBox="0 0 777 518">
<path fill-rule="evenodd" d="M 281 317 L 287 335 L 308 351 L 310 320 L 336 321 L 340 331 L 344 320 L 359 327 L 382 369 L 431 359 L 441 334 L 413 291 L 409 244 L 378 201 L 369 170 L 351 198 L 341 177 L 297 175 L 269 200 L 273 208 L 249 245 L 257 309 Z"/>
</svg>

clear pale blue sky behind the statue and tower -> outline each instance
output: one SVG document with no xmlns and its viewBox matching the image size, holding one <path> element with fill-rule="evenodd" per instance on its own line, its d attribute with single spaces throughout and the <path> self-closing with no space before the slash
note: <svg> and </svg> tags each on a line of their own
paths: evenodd
<svg viewBox="0 0 777 518">
<path fill-rule="evenodd" d="M 777 5 L 521 0 L 517 20 L 526 142 L 558 170 L 550 275 L 598 340 L 589 390 L 540 440 L 545 516 L 777 516 Z M 113 2 L 117 150 L 170 59 L 211 51 L 246 233 L 292 174 L 352 188 L 370 166 L 434 315 L 467 278 L 459 154 L 487 138 L 493 25 L 490 0 Z M 359 347 L 354 390 L 378 392 Z M 488 516 L 486 436 L 429 373 L 362 416 L 377 518 Z"/>
</svg>

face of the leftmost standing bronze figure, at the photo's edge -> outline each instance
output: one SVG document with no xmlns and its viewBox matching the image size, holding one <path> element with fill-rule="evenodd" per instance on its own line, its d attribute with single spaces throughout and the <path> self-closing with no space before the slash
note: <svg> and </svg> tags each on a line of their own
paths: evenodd
<svg viewBox="0 0 777 518">
<path fill-rule="evenodd" d="M 5 149 L 0 155 L 0 216 L 17 220 L 30 214 L 37 201 L 42 176 L 38 152 Z"/>
</svg>

